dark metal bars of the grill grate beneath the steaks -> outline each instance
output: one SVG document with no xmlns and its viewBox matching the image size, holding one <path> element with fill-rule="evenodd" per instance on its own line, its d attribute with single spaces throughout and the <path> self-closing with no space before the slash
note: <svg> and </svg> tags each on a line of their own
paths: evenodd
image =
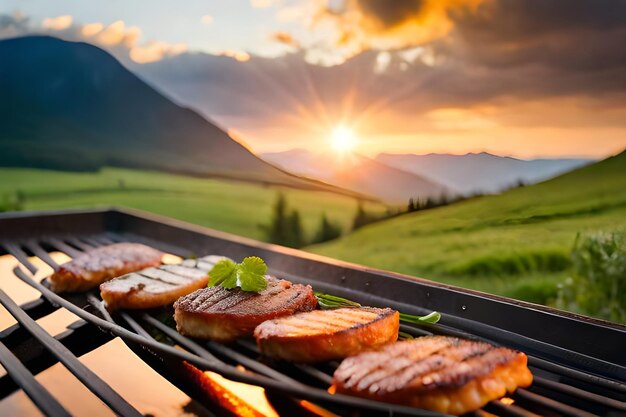
<svg viewBox="0 0 626 417">
<path fill-rule="evenodd" d="M 0 225 L 1 220 L 0 218 Z M 330 384 L 332 372 L 337 366 L 336 363 L 310 366 L 267 362 L 260 360 L 256 346 L 247 341 L 225 346 L 184 337 L 160 320 L 160 311 L 122 312 L 112 317 L 103 308 L 95 292 L 60 297 L 33 279 L 32 274 L 37 272 L 37 268 L 29 262 L 29 255 L 37 256 L 56 269 L 58 265 L 49 255 L 52 251 L 61 251 L 74 257 L 82 251 L 120 241 L 146 243 L 182 257 L 188 257 L 198 250 L 192 244 L 189 248 L 174 246 L 163 236 L 147 237 L 125 230 L 111 231 L 103 228 L 96 233 L 75 231 L 71 233 L 64 234 L 63 230 L 60 230 L 54 234 L 42 236 L 30 234 L 0 243 L 0 246 L 22 265 L 14 269 L 14 275 L 41 293 L 40 299 L 17 306 L 6 293 L 0 290 L 0 303 L 18 321 L 18 324 L 0 333 L 0 358 L 7 370 L 7 375 L 0 378 L 0 399 L 19 387 L 24 389 L 45 415 L 69 415 L 33 378 L 34 374 L 60 361 L 116 414 L 141 415 L 76 359 L 77 356 L 108 341 L 113 335 L 121 337 L 147 363 L 161 371 L 171 382 L 201 403 L 207 403 L 210 400 L 197 390 L 190 373 L 181 372 L 184 369 L 184 366 L 181 366 L 182 362 L 187 362 L 201 370 L 217 372 L 232 380 L 265 387 L 272 398 L 278 393 L 280 401 L 290 403 L 292 407 L 298 407 L 299 402 L 293 402 L 290 399 L 297 398 L 312 401 L 339 415 L 346 414 L 348 410 L 351 415 L 355 414 L 354 410 L 360 410 L 360 415 L 368 416 L 440 415 L 430 411 L 344 395 L 331 395 L 326 389 Z M 230 253 L 232 249 L 229 248 L 232 242 L 223 237 L 220 238 L 225 249 L 223 253 L 233 256 Z M 275 251 L 275 248 L 272 248 L 270 253 Z M 274 264 L 271 259 L 269 261 L 271 265 Z M 302 276 L 294 275 L 293 272 L 291 274 L 281 271 L 272 272 L 296 282 L 303 281 Z M 302 275 L 305 274 L 308 272 L 302 272 Z M 0 278 L 4 279 L 4 277 Z M 317 289 L 318 283 L 314 285 Z M 329 285 L 320 282 L 319 287 L 321 290 L 327 290 Z M 337 292 L 338 288 L 332 287 L 332 290 Z M 348 294 L 341 295 L 348 296 Z M 353 293 L 350 296 L 368 304 L 368 300 L 364 299 L 362 294 Z M 378 300 L 375 297 L 372 299 Z M 385 304 L 378 301 L 370 304 Z M 387 300 L 387 304 L 390 302 Z M 53 338 L 34 320 L 59 308 L 71 311 L 82 320 Z M 506 344 L 529 353 L 529 366 L 535 375 L 533 385 L 528 389 L 517 390 L 511 396 L 512 404 L 493 401 L 484 410 L 477 411 L 473 415 L 484 416 L 486 413 L 502 416 L 626 415 L 626 384 L 624 383 L 626 373 L 622 365 L 603 358 L 573 352 L 518 333 L 493 328 L 484 323 L 472 321 L 471 326 L 467 326 L 465 322 L 468 319 L 463 317 L 446 314 L 445 318 L 447 320 L 436 326 L 402 325 L 402 331 L 414 336 L 444 334 L 482 339 L 496 344 Z M 479 331 L 470 333 L 468 328 Z M 104 330 L 104 332 L 97 329 Z M 580 326 L 580 331 L 583 332 L 584 327 Z M 620 334 L 623 336 L 623 329 Z M 586 335 L 581 333 L 580 337 L 583 339 Z M 619 340 L 624 341 L 623 338 L 613 339 L 613 342 L 618 342 L 614 346 L 615 349 L 619 349 L 619 346 L 623 349 L 623 346 L 626 346 L 625 343 L 620 345 Z M 174 345 L 183 347 L 184 350 Z M 559 358 L 560 360 L 555 360 L 558 354 L 563 355 Z M 572 362 L 575 362 L 577 366 L 573 367 Z M 242 366 L 246 371 L 241 370 Z M 306 415 L 304 409 L 301 409 L 301 414 Z"/>
</svg>

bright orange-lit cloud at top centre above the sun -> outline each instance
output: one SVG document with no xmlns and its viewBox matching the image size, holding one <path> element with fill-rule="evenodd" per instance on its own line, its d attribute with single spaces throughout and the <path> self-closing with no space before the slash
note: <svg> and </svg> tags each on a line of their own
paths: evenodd
<svg viewBox="0 0 626 417">
<path fill-rule="evenodd" d="M 279 20 L 305 22 L 317 41 L 309 56 L 315 63 L 338 64 L 364 50 L 400 50 L 423 46 L 446 36 L 451 15 L 475 11 L 490 0 L 308 0 L 278 12 Z M 286 13 L 288 12 L 288 13 Z"/>
</svg>

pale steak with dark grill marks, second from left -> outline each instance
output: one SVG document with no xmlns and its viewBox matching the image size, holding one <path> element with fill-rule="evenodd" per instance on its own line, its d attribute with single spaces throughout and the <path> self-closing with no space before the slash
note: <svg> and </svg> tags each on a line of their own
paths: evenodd
<svg viewBox="0 0 626 417">
<path fill-rule="evenodd" d="M 154 308 L 206 287 L 208 272 L 220 256 L 187 259 L 178 265 L 161 265 L 112 279 L 100 285 L 109 310 Z"/>
</svg>

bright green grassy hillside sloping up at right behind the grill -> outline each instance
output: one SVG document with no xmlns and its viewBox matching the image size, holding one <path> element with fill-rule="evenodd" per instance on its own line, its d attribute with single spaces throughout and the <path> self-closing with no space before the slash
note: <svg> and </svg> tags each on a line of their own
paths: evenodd
<svg viewBox="0 0 626 417">
<path fill-rule="evenodd" d="M 626 153 L 541 184 L 370 225 L 308 250 L 549 302 L 577 233 L 626 228 Z"/>
</svg>

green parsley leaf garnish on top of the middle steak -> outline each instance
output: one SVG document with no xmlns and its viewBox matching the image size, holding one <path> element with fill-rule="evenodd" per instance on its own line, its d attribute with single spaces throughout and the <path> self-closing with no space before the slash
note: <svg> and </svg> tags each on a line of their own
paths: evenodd
<svg viewBox="0 0 626 417">
<path fill-rule="evenodd" d="M 267 265 L 258 256 L 248 256 L 239 264 L 223 259 L 209 271 L 209 287 L 221 285 L 227 289 L 239 287 L 243 291 L 260 292 L 267 287 L 266 272 Z"/>
</svg>

